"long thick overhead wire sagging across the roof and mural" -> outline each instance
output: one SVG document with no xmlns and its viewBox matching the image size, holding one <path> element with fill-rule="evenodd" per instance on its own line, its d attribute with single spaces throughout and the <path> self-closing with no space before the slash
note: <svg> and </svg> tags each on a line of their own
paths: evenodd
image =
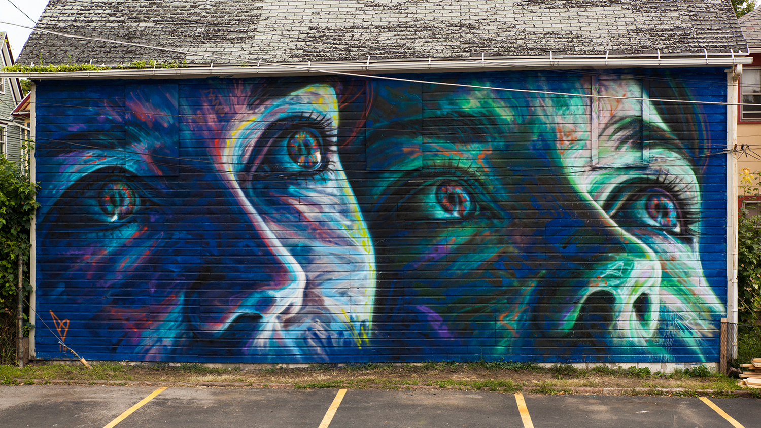
<svg viewBox="0 0 761 428">
<path fill-rule="evenodd" d="M 352 76 L 352 77 L 359 77 L 359 78 L 374 78 L 374 79 L 380 79 L 380 80 L 387 80 L 387 81 L 403 81 L 403 82 L 409 82 L 409 83 L 419 83 L 419 84 L 434 84 L 434 85 L 441 85 L 441 86 L 451 86 L 451 87 L 470 87 L 473 89 L 484 89 L 484 90 L 505 90 L 508 92 L 517 92 L 521 94 L 545 94 L 545 95 L 562 95 L 564 97 L 587 97 L 587 98 L 600 98 L 600 99 L 608 99 L 608 100 L 637 100 L 637 101 L 658 101 L 661 103 L 686 103 L 686 104 L 699 104 L 699 105 L 715 105 L 715 106 L 741 106 L 742 103 L 723 103 L 723 102 L 712 102 L 712 101 L 693 101 L 693 100 L 664 100 L 660 98 L 643 98 L 643 97 L 613 97 L 610 95 L 592 95 L 592 94 L 573 94 L 568 92 L 556 92 L 551 90 L 529 90 L 529 89 L 514 89 L 514 88 L 506 88 L 506 87 L 490 87 L 490 86 L 482 86 L 482 85 L 473 85 L 473 84 L 456 84 L 456 83 L 450 83 L 450 82 L 435 82 L 435 81 L 422 81 L 418 79 L 405 79 L 405 78 L 392 78 L 390 76 L 378 76 L 378 75 L 362 75 L 359 73 L 351 73 L 348 71 L 331 71 L 331 70 L 321 70 L 320 68 L 311 68 L 311 67 L 300 67 L 298 65 L 286 65 L 282 63 L 276 63 L 276 62 L 264 62 L 264 61 L 253 61 L 251 59 L 240 59 L 240 58 L 231 58 L 229 56 L 221 56 L 221 55 L 211 55 L 207 53 L 201 53 L 201 52 L 186 52 L 179 49 L 171 49 L 171 48 L 164 48 L 160 46 L 150 46 L 150 45 L 144 45 L 142 43 L 130 43 L 130 42 L 121 42 L 119 40 L 110 40 L 110 39 L 100 39 L 99 37 L 88 37 L 88 36 L 75 36 L 73 34 L 66 34 L 66 33 L 58 33 L 56 31 L 49 31 L 49 30 L 40 30 L 35 29 L 33 27 L 27 27 L 20 24 L 11 24 L 9 22 L 3 22 L 0 21 L 0 24 L 8 24 L 8 25 L 14 25 L 16 27 L 23 27 L 34 31 L 40 31 L 41 33 L 49 33 L 56 36 L 62 36 L 62 37 L 69 37 L 72 39 L 81 39 L 81 40 L 94 40 L 97 42 L 106 42 L 106 43 L 118 43 L 123 44 L 127 46 L 138 46 L 142 48 L 148 48 L 148 49 L 157 49 L 157 50 L 164 50 L 167 52 L 176 52 L 176 53 L 183 53 L 186 55 L 199 55 L 204 56 L 206 58 L 215 58 L 215 59 L 225 59 L 228 61 L 234 61 L 234 62 L 248 62 L 250 64 L 263 64 L 263 65 L 272 65 L 273 67 L 280 67 L 280 68 L 291 68 L 295 70 L 301 70 L 301 71 L 308 71 L 310 73 L 319 72 L 319 73 L 325 73 L 328 75 L 342 75 L 342 76 Z"/>
</svg>

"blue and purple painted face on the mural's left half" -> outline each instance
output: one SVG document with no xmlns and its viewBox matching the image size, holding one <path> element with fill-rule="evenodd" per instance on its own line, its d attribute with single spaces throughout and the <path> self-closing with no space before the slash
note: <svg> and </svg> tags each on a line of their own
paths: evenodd
<svg viewBox="0 0 761 428">
<path fill-rule="evenodd" d="M 101 134 L 40 168 L 53 189 L 39 301 L 67 320 L 65 342 L 112 359 L 356 352 L 374 255 L 336 150 L 335 90 L 135 88 L 126 126 L 101 119 L 126 127 L 126 147 Z"/>
</svg>

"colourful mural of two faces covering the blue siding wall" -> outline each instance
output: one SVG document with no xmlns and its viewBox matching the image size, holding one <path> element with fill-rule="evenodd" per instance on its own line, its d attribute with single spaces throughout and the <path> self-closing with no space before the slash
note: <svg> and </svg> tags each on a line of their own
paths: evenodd
<svg viewBox="0 0 761 428">
<path fill-rule="evenodd" d="M 400 77 L 447 85 L 41 85 L 38 318 L 103 360 L 716 359 L 725 110 L 668 100 L 721 72 Z"/>
</svg>

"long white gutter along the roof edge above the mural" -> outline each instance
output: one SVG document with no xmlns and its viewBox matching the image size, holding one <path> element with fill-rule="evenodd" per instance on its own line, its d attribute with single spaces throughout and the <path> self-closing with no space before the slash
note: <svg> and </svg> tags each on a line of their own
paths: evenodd
<svg viewBox="0 0 761 428">
<path fill-rule="evenodd" d="M 713 55 L 713 56 L 712 56 Z M 357 73 L 369 75 L 391 72 L 428 71 L 495 71 L 522 70 L 535 68 L 642 68 L 642 67 L 725 67 L 736 64 L 750 64 L 753 59 L 745 57 L 748 52 L 705 55 L 670 55 L 664 57 L 637 58 L 626 55 L 557 56 L 550 55 L 526 58 L 473 58 L 473 59 L 408 59 L 361 62 L 293 62 L 266 64 L 251 62 L 247 66 L 209 65 L 209 67 L 111 69 L 106 71 L 56 71 L 56 72 L 0 72 L 0 77 L 29 79 L 78 79 L 78 78 L 202 78 L 209 76 L 254 76 L 254 75 L 304 75 Z"/>
</svg>

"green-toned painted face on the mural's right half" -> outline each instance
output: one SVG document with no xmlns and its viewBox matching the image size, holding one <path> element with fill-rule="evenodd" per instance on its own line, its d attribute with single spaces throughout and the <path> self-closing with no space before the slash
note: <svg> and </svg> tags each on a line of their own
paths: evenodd
<svg viewBox="0 0 761 428">
<path fill-rule="evenodd" d="M 589 94 L 585 82 L 525 88 Z M 379 341 L 412 359 L 694 360 L 723 309 L 700 262 L 692 142 L 651 103 L 374 85 L 422 105 L 406 124 L 403 107 L 372 110 L 368 144 L 386 150 L 355 185 L 377 243 Z"/>
</svg>

